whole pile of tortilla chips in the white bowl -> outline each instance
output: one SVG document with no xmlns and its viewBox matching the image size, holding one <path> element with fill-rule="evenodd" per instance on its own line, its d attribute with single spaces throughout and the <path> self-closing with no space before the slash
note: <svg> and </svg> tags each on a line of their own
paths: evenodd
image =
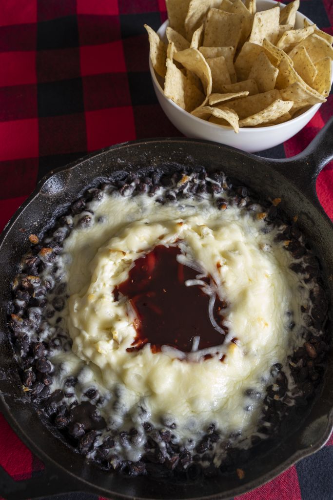
<svg viewBox="0 0 333 500">
<path fill-rule="evenodd" d="M 168 44 L 145 24 L 164 94 L 186 111 L 238 132 L 325 102 L 333 36 L 304 21 L 295 0 L 256 11 L 256 0 L 166 0 Z"/>
</svg>

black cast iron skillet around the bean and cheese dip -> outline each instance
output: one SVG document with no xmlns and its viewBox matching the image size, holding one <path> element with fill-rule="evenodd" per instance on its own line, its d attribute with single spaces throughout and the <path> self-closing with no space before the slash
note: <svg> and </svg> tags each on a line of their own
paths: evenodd
<svg viewBox="0 0 333 500">
<path fill-rule="evenodd" d="M 317 195 L 316 178 L 333 158 L 333 118 L 301 154 L 288 160 L 260 158 L 232 147 L 184 138 L 149 139 L 103 149 L 44 177 L 19 208 L 0 239 L 0 409 L 14 431 L 45 464 L 41 477 L 15 482 L 0 469 L 0 493 L 8 500 L 25 500 L 69 491 L 86 491 L 121 498 L 220 498 L 241 494 L 275 477 L 295 461 L 317 451 L 333 427 L 333 355 L 321 394 L 299 428 L 273 452 L 258 456 L 245 470 L 226 478 L 177 484 L 149 477 L 128 478 L 105 472 L 74 453 L 41 422 L 21 391 L 8 341 L 6 301 L 17 263 L 27 249 L 27 235 L 47 225 L 59 207 L 69 204 L 93 179 L 116 170 L 178 162 L 223 169 L 264 196 L 281 197 L 284 210 L 313 242 L 323 263 L 325 285 L 333 302 L 333 228 Z M 332 327 L 330 333 L 332 334 Z M 17 457 L 19 458 L 19 457 Z M 236 465 L 237 466 L 237 465 Z"/>
</svg>

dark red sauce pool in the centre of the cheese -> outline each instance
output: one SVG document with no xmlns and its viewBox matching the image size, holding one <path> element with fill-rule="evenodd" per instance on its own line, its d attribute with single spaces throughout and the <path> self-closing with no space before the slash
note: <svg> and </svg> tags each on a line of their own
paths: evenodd
<svg viewBox="0 0 333 500">
<path fill-rule="evenodd" d="M 185 285 L 198 272 L 179 263 L 178 253 L 177 247 L 156 246 L 135 261 L 129 278 L 115 289 L 116 298 L 121 292 L 130 299 L 138 318 L 137 337 L 127 350 L 138 350 L 150 342 L 153 352 L 163 344 L 189 352 L 194 336 L 200 336 L 199 349 L 223 343 L 224 335 L 209 319 L 209 296 L 199 285 Z M 225 304 L 217 298 L 214 318 L 221 327 L 219 311 L 223 307 Z"/>
</svg>

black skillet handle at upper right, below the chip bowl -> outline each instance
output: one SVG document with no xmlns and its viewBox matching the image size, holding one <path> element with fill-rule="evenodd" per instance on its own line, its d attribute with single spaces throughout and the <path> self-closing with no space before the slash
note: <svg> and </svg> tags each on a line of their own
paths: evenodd
<svg viewBox="0 0 333 500">
<path fill-rule="evenodd" d="M 333 159 L 333 116 L 300 154 L 276 160 L 276 169 L 283 173 L 313 202 L 319 203 L 316 180 L 324 166 Z"/>
</svg>

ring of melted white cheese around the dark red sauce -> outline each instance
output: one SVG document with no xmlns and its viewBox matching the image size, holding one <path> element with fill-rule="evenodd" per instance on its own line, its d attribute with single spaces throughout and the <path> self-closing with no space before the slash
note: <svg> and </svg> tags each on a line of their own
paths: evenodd
<svg viewBox="0 0 333 500">
<path fill-rule="evenodd" d="M 264 394 L 272 364 L 283 364 L 291 345 L 300 342 L 300 304 L 308 299 L 289 269 L 290 253 L 274 241 L 276 230 L 264 234 L 264 222 L 253 212 L 232 206 L 221 211 L 208 199 L 161 205 L 147 195 L 113 194 L 91 207 L 95 220 L 103 216 L 103 222 L 73 230 L 64 242 L 70 298 L 62 315 L 73 354 L 58 354 L 57 361 L 67 355 L 71 367 L 77 362 L 80 381 L 99 388 L 108 401 L 101 411 L 110 428 L 135 421 L 142 406 L 154 424 L 161 417 L 173 419 L 180 439 L 202 433 L 210 422 L 226 434 L 253 432 L 261 402 L 251 401 L 246 410 L 245 390 Z M 179 240 L 186 259 L 214 278 L 220 298 L 229 304 L 226 340 L 206 360 L 200 351 L 183 360 L 171 349 L 154 354 L 149 344 L 127 352 L 135 337 L 133 313 L 126 297 L 114 300 L 114 286 L 156 244 Z M 287 326 L 291 311 L 293 333 Z M 115 390 L 120 394 L 116 409 L 110 402 Z"/>
</svg>

